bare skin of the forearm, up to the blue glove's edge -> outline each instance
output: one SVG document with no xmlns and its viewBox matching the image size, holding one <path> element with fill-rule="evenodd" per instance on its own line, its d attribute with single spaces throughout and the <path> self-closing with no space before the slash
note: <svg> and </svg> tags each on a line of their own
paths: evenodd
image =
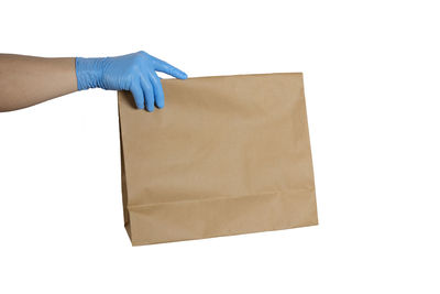
<svg viewBox="0 0 440 294">
<path fill-rule="evenodd" d="M 0 54 L 0 111 L 33 106 L 76 90 L 75 58 Z"/>
</svg>

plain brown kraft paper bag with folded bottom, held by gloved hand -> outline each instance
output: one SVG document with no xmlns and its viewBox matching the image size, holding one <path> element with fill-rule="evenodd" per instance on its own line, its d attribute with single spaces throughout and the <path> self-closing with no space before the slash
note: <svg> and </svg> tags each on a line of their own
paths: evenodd
<svg viewBox="0 0 440 294">
<path fill-rule="evenodd" d="M 162 85 L 152 113 L 119 91 L 133 246 L 318 224 L 302 74 Z"/>
</svg>

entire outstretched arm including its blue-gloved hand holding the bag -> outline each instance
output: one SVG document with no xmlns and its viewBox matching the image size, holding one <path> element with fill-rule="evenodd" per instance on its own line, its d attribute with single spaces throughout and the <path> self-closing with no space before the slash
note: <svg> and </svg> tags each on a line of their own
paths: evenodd
<svg viewBox="0 0 440 294">
<path fill-rule="evenodd" d="M 0 54 L 0 111 L 33 106 L 76 90 L 130 90 L 139 109 L 164 107 L 156 72 L 187 75 L 143 51 L 106 58 L 42 58 Z"/>
</svg>

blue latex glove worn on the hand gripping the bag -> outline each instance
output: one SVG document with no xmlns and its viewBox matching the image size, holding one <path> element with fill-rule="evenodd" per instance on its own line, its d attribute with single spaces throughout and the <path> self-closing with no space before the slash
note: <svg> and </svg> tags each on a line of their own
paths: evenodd
<svg viewBox="0 0 440 294">
<path fill-rule="evenodd" d="M 157 72 L 186 79 L 180 69 L 140 51 L 118 57 L 76 58 L 78 90 L 102 88 L 130 90 L 139 109 L 154 110 L 165 105 L 164 91 Z"/>
</svg>

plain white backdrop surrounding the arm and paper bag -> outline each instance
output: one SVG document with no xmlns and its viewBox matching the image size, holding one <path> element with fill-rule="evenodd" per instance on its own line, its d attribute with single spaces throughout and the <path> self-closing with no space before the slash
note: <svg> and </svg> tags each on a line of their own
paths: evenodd
<svg viewBox="0 0 440 294">
<path fill-rule="evenodd" d="M 116 92 L 76 92 L 0 113 L 0 292 L 439 293 L 436 2 L 3 1 L 3 53 L 304 72 L 320 225 L 132 248 Z"/>
</svg>

